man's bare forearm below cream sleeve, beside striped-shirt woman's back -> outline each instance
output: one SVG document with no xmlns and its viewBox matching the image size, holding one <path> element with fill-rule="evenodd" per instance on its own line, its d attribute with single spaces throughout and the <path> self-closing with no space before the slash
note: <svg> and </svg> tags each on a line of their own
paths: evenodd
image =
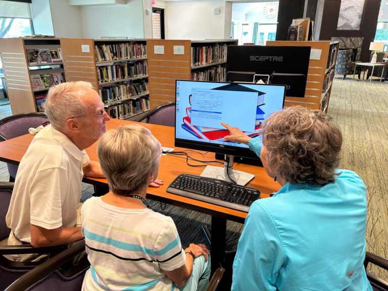
<svg viewBox="0 0 388 291">
<path fill-rule="evenodd" d="M 31 245 L 34 248 L 60 246 L 83 239 L 81 227 L 59 227 L 46 229 L 31 224 Z"/>
</svg>

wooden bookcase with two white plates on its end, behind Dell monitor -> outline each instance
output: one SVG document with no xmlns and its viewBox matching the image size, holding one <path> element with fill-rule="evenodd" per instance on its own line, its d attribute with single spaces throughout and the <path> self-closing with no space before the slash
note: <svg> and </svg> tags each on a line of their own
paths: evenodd
<svg viewBox="0 0 388 291">
<path fill-rule="evenodd" d="M 177 79 L 224 80 L 228 45 L 237 40 L 148 39 L 151 109 L 175 101 Z"/>
</svg>

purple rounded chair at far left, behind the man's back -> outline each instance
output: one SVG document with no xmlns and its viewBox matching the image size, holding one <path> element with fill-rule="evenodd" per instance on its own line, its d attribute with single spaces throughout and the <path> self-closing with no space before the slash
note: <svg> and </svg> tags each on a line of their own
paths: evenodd
<svg viewBox="0 0 388 291">
<path fill-rule="evenodd" d="M 49 118 L 41 112 L 27 112 L 11 115 L 0 120 L 0 141 L 28 133 L 30 127 L 38 127 Z M 18 166 L 7 163 L 10 182 L 15 181 Z"/>
</svg>

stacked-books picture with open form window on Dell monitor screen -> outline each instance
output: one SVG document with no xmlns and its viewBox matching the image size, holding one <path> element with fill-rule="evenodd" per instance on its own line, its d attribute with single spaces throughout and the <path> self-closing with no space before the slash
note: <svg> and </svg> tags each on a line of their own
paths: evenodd
<svg viewBox="0 0 388 291">
<path fill-rule="evenodd" d="M 193 88 L 188 96 L 191 107 L 186 108 L 181 126 L 197 138 L 206 140 L 228 141 L 224 136 L 229 135 L 229 130 L 221 125 L 221 121 L 239 127 L 248 136 L 257 136 L 264 120 L 265 113 L 260 108 L 264 105 L 264 96 L 265 92 L 235 83 L 212 89 Z M 233 104 L 223 103 L 227 98 L 235 100 L 233 107 L 225 107 L 225 104 Z M 230 118 L 236 121 L 237 117 L 241 124 L 229 121 Z"/>
</svg>

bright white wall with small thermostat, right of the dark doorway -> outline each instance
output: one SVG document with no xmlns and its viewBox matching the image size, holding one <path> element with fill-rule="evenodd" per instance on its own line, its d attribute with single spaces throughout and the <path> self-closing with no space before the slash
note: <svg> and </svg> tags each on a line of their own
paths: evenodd
<svg viewBox="0 0 388 291">
<path fill-rule="evenodd" d="M 225 0 L 166 2 L 166 5 L 169 39 L 224 38 Z M 221 10 L 219 15 L 214 15 L 215 8 Z M 227 29 L 230 35 L 230 25 Z"/>
</svg>

